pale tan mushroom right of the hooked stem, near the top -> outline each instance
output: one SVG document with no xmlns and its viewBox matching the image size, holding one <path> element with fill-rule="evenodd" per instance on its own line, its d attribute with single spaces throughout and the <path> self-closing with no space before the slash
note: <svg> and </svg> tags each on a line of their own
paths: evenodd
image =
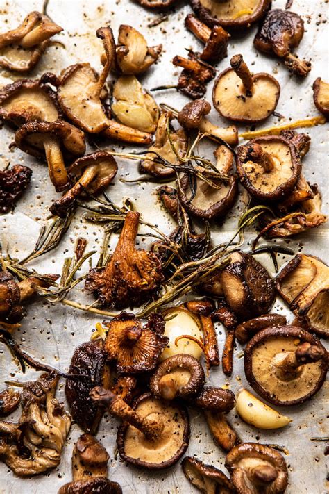
<svg viewBox="0 0 329 494">
<path fill-rule="evenodd" d="M 134 75 L 145 72 L 158 60 L 162 44 L 148 47 L 144 36 L 132 26 L 119 26 L 116 63 L 122 74 Z"/>
</svg>

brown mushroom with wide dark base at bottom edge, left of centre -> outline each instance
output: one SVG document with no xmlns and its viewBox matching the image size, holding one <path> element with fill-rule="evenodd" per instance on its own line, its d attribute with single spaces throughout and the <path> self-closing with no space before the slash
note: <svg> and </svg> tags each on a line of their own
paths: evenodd
<svg viewBox="0 0 329 494">
<path fill-rule="evenodd" d="M 60 488 L 58 494 L 121 494 L 117 482 L 108 479 L 108 452 L 91 434 L 82 434 L 72 454 L 73 481 Z"/>
</svg>

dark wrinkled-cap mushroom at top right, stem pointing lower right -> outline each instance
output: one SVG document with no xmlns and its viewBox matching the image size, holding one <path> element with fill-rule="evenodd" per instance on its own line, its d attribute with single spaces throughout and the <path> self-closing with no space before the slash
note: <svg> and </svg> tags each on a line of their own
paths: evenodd
<svg viewBox="0 0 329 494">
<path fill-rule="evenodd" d="M 292 74 L 305 77 L 311 69 L 308 60 L 299 60 L 291 53 L 298 47 L 304 35 L 304 21 L 294 12 L 278 8 L 267 13 L 253 44 L 264 53 L 274 55 L 285 60 L 285 65 Z"/>
</svg>

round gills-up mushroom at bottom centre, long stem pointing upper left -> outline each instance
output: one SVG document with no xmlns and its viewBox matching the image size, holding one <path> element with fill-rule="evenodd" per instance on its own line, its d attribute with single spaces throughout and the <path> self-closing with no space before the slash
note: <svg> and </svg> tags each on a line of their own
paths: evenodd
<svg viewBox="0 0 329 494">
<path fill-rule="evenodd" d="M 133 406 L 104 390 L 94 388 L 92 399 L 120 418 L 117 446 L 121 459 L 148 470 L 174 465 L 187 450 L 189 420 L 181 405 L 158 400 L 151 393 L 138 397 Z"/>
</svg>

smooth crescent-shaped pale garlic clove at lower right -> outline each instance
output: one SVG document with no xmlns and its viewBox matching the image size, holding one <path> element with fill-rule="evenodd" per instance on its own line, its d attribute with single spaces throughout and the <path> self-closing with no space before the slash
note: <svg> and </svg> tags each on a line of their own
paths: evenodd
<svg viewBox="0 0 329 494">
<path fill-rule="evenodd" d="M 280 429 L 292 422 L 291 418 L 281 415 L 246 389 L 239 392 L 235 408 L 244 422 L 259 429 Z"/>
</svg>

